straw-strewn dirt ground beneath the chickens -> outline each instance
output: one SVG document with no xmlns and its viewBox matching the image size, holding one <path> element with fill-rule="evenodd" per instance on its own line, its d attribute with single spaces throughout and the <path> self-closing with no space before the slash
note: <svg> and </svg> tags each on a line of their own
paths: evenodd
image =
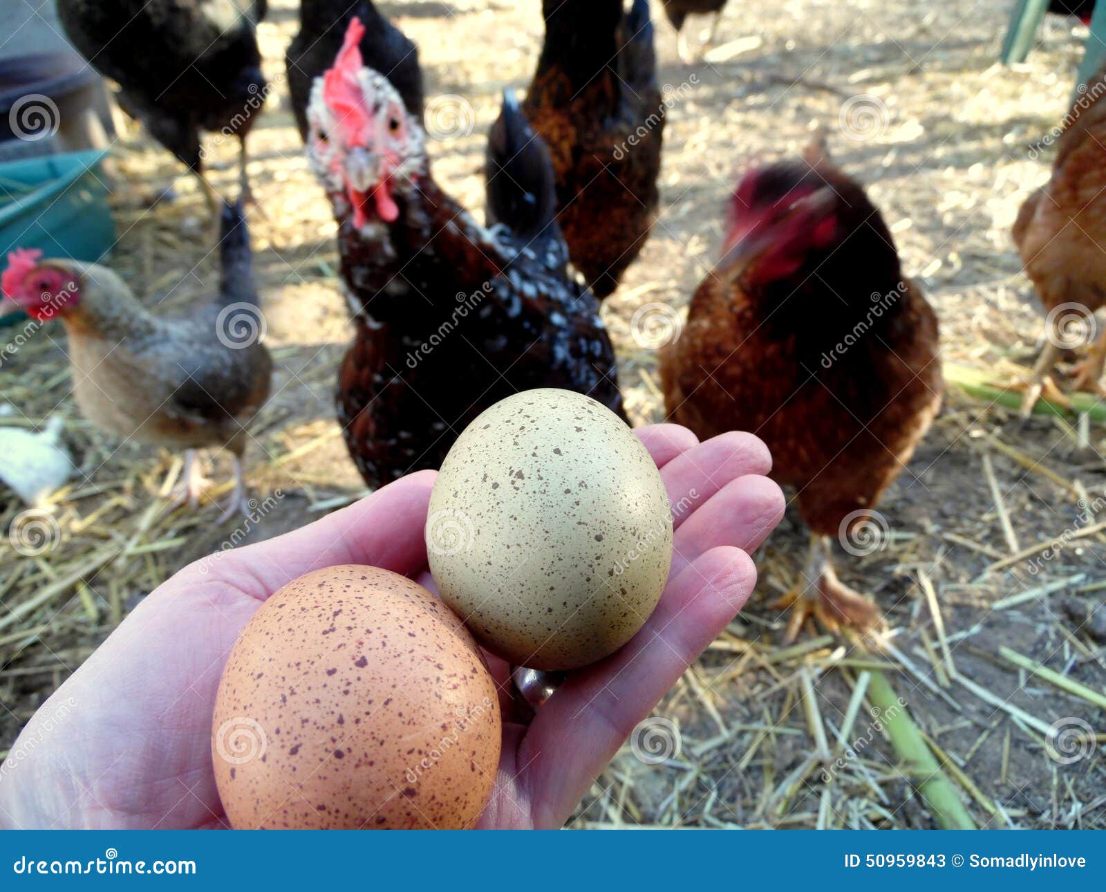
<svg viewBox="0 0 1106 892">
<path fill-rule="evenodd" d="M 479 211 L 486 133 L 501 91 L 529 81 L 539 0 L 379 6 L 420 48 L 430 129 L 444 137 L 430 142 L 435 175 Z M 1008 69 L 998 56 L 1009 0 L 734 0 L 714 49 L 686 65 L 654 6 L 660 80 L 678 96 L 665 131 L 661 214 L 604 307 L 636 423 L 660 421 L 664 409 L 656 354 L 632 333 L 635 311 L 686 305 L 717 256 L 735 170 L 801 151 L 814 124 L 890 224 L 904 268 L 940 317 L 946 362 L 998 381 L 1032 363 L 1042 315 L 1010 226 L 1047 176 L 1051 153 L 1034 147 L 1067 108 L 1086 29 L 1050 18 L 1027 62 Z M 259 499 L 278 489 L 285 497 L 248 525 L 247 541 L 363 494 L 334 419 L 334 375 L 349 339 L 334 225 L 282 83 L 295 7 L 275 0 L 260 28 L 276 86 L 251 163 L 278 371 L 254 432 L 260 446 L 248 454 L 249 485 Z M 692 22 L 692 43 L 706 24 Z M 213 146 L 213 179 L 229 194 L 233 149 Z M 215 281 L 202 201 L 181 177 L 176 200 L 142 203 L 179 170 L 136 127 L 115 159 L 113 262 L 143 300 L 182 310 Z M 0 542 L 0 757 L 129 608 L 231 532 L 215 525 L 213 505 L 158 516 L 155 497 L 178 459 L 117 448 L 80 418 L 70 386 L 60 332 L 34 339 L 0 372 L 15 423 L 60 415 L 83 473 L 53 508 L 51 552 L 24 558 Z M 878 642 L 863 651 L 806 633 L 781 645 L 786 616 L 770 604 L 806 547 L 789 511 L 757 556 L 750 606 L 657 707 L 666 722 L 644 727 L 597 779 L 573 826 L 933 827 L 919 779 L 900 769 L 879 708 L 862 698 L 875 672 L 978 824 L 1106 828 L 1106 714 L 1009 656 L 1104 695 L 1106 608 L 1092 613 L 1106 590 L 1106 535 L 1095 517 L 1106 506 L 1104 448 L 1099 427 L 1047 417 L 1021 425 L 950 387 L 879 508 L 884 529 L 868 553 L 839 554 L 843 579 L 886 614 Z M 212 476 L 228 473 L 217 457 Z M 0 528 L 20 510 L 0 494 Z M 1046 557 L 1056 537 L 1064 548 Z M 1083 730 L 1071 737 L 1073 728 Z M 678 748 L 657 743 L 666 734 Z M 659 761 L 649 757 L 657 746 Z"/>
</svg>

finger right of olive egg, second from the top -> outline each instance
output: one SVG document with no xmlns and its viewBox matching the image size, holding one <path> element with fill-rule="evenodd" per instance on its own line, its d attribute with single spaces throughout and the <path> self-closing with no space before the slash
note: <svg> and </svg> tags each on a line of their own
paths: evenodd
<svg viewBox="0 0 1106 892">
<path fill-rule="evenodd" d="M 771 469 L 772 456 L 763 440 L 738 431 L 711 437 L 681 453 L 660 473 L 674 506 L 676 527 L 730 480 Z"/>
</svg>

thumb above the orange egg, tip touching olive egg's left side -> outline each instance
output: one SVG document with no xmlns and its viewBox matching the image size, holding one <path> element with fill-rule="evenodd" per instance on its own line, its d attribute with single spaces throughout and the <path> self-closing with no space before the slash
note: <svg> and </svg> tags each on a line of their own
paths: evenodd
<svg viewBox="0 0 1106 892">
<path fill-rule="evenodd" d="M 427 563 L 422 529 L 436 478 L 432 470 L 410 474 L 314 523 L 188 570 L 218 575 L 262 600 L 296 577 L 341 563 L 415 577 Z"/>
</svg>

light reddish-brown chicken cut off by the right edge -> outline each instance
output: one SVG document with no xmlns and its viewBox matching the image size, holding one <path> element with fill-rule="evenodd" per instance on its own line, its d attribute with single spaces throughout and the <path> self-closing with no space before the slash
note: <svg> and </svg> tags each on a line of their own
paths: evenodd
<svg viewBox="0 0 1106 892">
<path fill-rule="evenodd" d="M 1106 65 L 1091 83 L 1103 79 Z M 1013 236 L 1047 313 L 1045 345 L 1022 402 L 1025 417 L 1045 387 L 1063 402 L 1050 374 L 1067 346 L 1094 331 L 1094 313 L 1106 298 L 1106 102 L 1100 93 L 1088 91 L 1076 100 L 1056 141 L 1052 178 L 1022 205 Z M 1104 362 L 1106 331 L 1078 366 L 1073 386 L 1104 393 Z"/>
</svg>

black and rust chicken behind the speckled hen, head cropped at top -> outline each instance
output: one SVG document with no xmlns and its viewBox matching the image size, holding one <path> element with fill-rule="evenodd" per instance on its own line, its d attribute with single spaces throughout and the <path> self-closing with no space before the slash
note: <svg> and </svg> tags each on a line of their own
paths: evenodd
<svg viewBox="0 0 1106 892">
<path fill-rule="evenodd" d="M 557 220 L 596 297 L 617 287 L 657 216 L 666 106 L 648 0 L 543 0 L 545 43 L 523 110 L 550 147 Z"/>
</svg>

